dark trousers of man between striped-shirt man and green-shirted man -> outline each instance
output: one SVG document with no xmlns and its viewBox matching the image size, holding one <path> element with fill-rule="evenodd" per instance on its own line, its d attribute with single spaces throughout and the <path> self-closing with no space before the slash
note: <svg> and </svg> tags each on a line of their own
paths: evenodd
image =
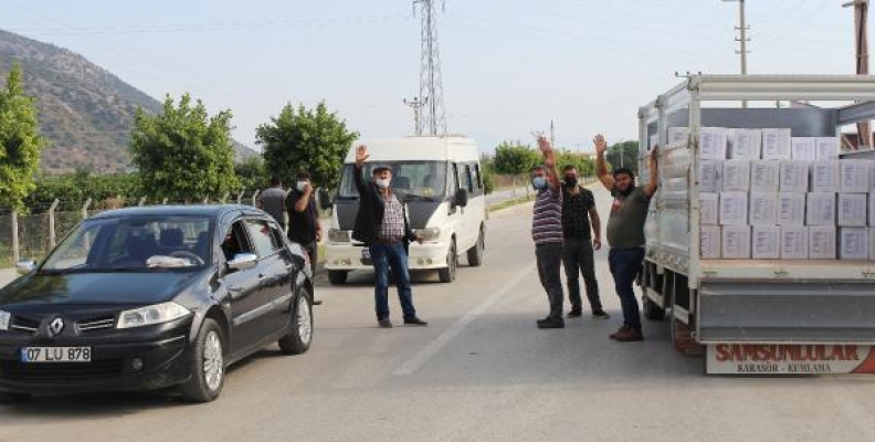
<svg viewBox="0 0 875 442">
<path fill-rule="evenodd" d="M 562 244 L 562 264 L 568 282 L 568 301 L 571 307 L 581 307 L 580 275 L 587 285 L 587 299 L 593 312 L 602 309 L 599 298 L 599 282 L 595 281 L 595 261 L 592 251 L 592 240 L 584 238 L 566 238 Z"/>
</svg>

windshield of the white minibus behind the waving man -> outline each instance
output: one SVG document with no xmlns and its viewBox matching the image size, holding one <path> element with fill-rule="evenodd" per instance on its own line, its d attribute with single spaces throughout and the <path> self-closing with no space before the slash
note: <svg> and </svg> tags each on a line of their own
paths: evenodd
<svg viewBox="0 0 875 442">
<path fill-rule="evenodd" d="M 442 199 L 446 194 L 446 162 L 442 161 L 373 161 L 365 164 L 365 179 L 378 166 L 392 168 L 392 189 L 410 197 Z M 344 166 L 338 190 L 340 198 L 358 198 L 352 179 L 352 165 Z"/>
</svg>

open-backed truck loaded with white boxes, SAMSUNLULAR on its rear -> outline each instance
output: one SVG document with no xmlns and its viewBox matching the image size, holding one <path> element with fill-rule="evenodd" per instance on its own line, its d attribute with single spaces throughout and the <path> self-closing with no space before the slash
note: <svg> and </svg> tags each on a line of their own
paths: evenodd
<svg viewBox="0 0 875 442">
<path fill-rule="evenodd" d="M 875 372 L 875 157 L 840 151 L 873 118 L 868 75 L 690 75 L 640 108 L 641 161 L 658 146 L 660 166 L 643 314 L 706 373 Z"/>
</svg>

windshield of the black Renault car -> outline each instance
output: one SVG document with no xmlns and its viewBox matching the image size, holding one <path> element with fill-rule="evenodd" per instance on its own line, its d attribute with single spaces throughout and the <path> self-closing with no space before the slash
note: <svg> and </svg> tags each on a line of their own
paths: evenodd
<svg viewBox="0 0 875 442">
<path fill-rule="evenodd" d="M 207 218 L 112 218 L 81 223 L 40 271 L 196 267 L 210 261 Z"/>
</svg>

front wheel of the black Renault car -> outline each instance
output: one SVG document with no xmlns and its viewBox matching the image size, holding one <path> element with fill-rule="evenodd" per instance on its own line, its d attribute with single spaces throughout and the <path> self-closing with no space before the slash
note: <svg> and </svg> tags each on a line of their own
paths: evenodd
<svg viewBox="0 0 875 442">
<path fill-rule="evenodd" d="M 215 320 L 203 320 L 194 345 L 189 350 L 191 379 L 182 386 L 182 397 L 192 402 L 210 402 L 224 386 L 224 336 Z"/>
</svg>

